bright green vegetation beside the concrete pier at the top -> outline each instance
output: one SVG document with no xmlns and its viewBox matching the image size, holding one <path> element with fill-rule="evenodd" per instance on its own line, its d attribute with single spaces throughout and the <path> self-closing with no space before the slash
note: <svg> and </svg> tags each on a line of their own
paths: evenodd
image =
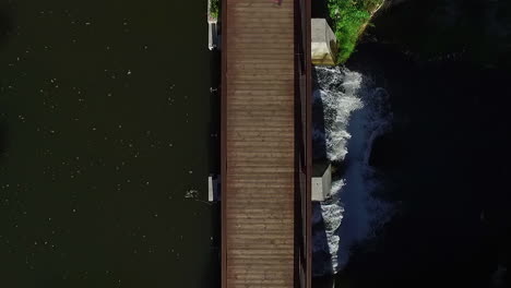
<svg viewBox="0 0 511 288">
<path fill-rule="evenodd" d="M 372 13 L 384 0 L 328 0 L 330 19 L 337 37 L 337 62 L 344 63 L 355 50 L 358 37 Z"/>
</svg>

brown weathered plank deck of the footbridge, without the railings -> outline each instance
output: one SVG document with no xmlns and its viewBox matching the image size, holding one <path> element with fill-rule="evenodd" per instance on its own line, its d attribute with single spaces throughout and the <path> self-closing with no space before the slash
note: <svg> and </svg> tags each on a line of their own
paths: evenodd
<svg viewBox="0 0 511 288">
<path fill-rule="evenodd" d="M 294 287 L 294 0 L 226 0 L 225 288 Z"/>
</svg>

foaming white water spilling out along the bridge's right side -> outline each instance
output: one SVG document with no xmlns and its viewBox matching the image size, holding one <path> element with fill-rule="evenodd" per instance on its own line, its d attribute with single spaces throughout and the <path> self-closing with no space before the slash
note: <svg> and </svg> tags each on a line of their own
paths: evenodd
<svg viewBox="0 0 511 288">
<path fill-rule="evenodd" d="M 350 248 L 389 217 L 388 204 L 372 196 L 379 182 L 368 160 L 392 115 L 387 92 L 369 77 L 344 68 L 316 68 L 316 74 L 314 115 L 322 119 L 314 121 L 314 156 L 326 157 L 341 173 L 329 199 L 313 206 L 313 273 L 325 275 L 341 271 Z"/>
</svg>

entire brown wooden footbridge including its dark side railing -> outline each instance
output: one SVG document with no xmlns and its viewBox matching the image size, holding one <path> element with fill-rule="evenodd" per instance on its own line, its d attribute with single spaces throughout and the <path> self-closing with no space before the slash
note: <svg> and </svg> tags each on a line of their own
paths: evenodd
<svg viewBox="0 0 511 288">
<path fill-rule="evenodd" d="M 222 287 L 310 288 L 310 0 L 222 0 Z"/>
</svg>

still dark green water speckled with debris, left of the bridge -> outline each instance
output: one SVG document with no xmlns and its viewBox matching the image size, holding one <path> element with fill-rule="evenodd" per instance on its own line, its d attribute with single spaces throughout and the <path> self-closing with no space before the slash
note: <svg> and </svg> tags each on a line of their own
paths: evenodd
<svg viewBox="0 0 511 288">
<path fill-rule="evenodd" d="M 214 287 L 205 10 L 0 0 L 2 287 Z"/>
</svg>

